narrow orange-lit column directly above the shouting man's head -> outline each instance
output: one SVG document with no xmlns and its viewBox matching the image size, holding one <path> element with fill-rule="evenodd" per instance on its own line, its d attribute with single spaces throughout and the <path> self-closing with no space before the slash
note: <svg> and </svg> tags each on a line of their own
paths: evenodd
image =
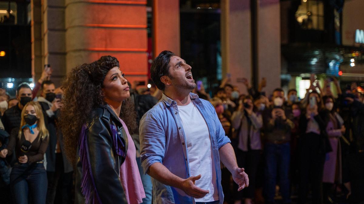
<svg viewBox="0 0 364 204">
<path fill-rule="evenodd" d="M 181 56 L 179 23 L 179 0 L 153 0 L 154 58 L 163 50 Z"/>
</svg>

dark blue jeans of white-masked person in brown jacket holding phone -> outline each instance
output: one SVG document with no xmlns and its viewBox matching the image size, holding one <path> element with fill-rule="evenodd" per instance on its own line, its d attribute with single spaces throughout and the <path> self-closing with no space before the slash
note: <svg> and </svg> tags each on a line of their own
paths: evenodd
<svg viewBox="0 0 364 204">
<path fill-rule="evenodd" d="M 289 160 L 290 160 L 290 144 L 289 142 L 282 144 L 265 144 L 265 194 L 266 201 L 274 203 L 274 195 L 276 193 L 277 170 L 279 175 L 280 190 L 284 203 L 290 203 L 289 193 Z"/>
</svg>

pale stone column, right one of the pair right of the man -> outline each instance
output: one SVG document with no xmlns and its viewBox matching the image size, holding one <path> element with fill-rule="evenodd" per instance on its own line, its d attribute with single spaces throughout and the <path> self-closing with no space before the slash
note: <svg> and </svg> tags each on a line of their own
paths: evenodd
<svg viewBox="0 0 364 204">
<path fill-rule="evenodd" d="M 257 3 L 258 78 L 267 79 L 263 91 L 269 96 L 281 86 L 280 1 L 258 0 Z"/>
</svg>

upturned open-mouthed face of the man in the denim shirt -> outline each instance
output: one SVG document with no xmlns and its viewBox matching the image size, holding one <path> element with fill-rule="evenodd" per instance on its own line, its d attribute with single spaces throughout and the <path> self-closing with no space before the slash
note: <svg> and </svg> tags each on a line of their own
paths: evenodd
<svg viewBox="0 0 364 204">
<path fill-rule="evenodd" d="M 195 80 L 192 77 L 191 66 L 181 57 L 172 56 L 169 62 L 169 78 L 171 86 L 179 89 L 193 90 L 196 87 Z"/>
</svg>

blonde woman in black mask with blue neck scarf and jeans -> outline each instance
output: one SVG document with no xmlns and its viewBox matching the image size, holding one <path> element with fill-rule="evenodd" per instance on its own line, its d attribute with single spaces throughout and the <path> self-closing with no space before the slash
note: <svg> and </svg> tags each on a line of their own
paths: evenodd
<svg viewBox="0 0 364 204">
<path fill-rule="evenodd" d="M 28 102 L 21 111 L 20 128 L 11 131 L 8 147 L 1 150 L 5 158 L 15 151 L 17 161 L 10 175 L 14 203 L 46 203 L 47 173 L 43 155 L 48 146 L 48 130 L 38 102 Z"/>
</svg>

